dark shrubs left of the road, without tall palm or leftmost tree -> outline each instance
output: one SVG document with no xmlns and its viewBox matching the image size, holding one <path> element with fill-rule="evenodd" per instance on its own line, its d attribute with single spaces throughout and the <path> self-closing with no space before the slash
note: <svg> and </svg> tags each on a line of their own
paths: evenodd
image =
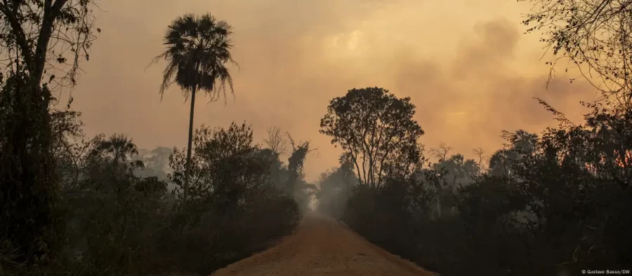
<svg viewBox="0 0 632 276">
<path fill-rule="evenodd" d="M 62 125 L 79 131 L 77 115 L 55 111 L 53 133 Z M 195 132 L 186 206 L 186 151 L 141 154 L 125 135 L 72 142 L 81 132 L 65 134 L 53 143 L 61 233 L 48 240 L 58 244 L 38 268 L 43 261 L 30 244 L 3 239 L 0 275 L 209 275 L 289 234 L 307 208 L 299 196 L 310 193 L 302 168 L 254 144 L 247 125 Z M 289 164 L 303 162 L 301 149 L 308 144 L 291 151 Z"/>
</svg>

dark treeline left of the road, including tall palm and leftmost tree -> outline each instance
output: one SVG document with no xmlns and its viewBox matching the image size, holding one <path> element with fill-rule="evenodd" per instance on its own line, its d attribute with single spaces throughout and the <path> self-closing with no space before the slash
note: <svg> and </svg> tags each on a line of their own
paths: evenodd
<svg viewBox="0 0 632 276">
<path fill-rule="evenodd" d="M 291 233 L 314 190 L 308 142 L 282 151 L 277 131 L 262 148 L 246 124 L 194 132 L 191 109 L 187 148 L 139 151 L 124 134 L 85 137 L 72 97 L 57 107 L 53 90 L 76 83 L 100 32 L 91 8 L 0 3 L 0 275 L 209 275 Z M 173 20 L 160 92 L 176 83 L 193 106 L 196 92 L 232 88 L 230 29 L 208 14 Z"/>
</svg>

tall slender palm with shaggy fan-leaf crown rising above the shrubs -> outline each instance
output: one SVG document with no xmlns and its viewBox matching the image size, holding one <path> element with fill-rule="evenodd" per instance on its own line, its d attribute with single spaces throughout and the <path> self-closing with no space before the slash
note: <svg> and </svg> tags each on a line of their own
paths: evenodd
<svg viewBox="0 0 632 276">
<path fill-rule="evenodd" d="M 159 60 L 167 62 L 160 86 L 161 99 L 164 90 L 173 83 L 180 86 L 185 99 L 191 97 L 183 204 L 187 202 L 191 172 L 195 93 L 203 90 L 211 97 L 211 102 L 214 102 L 220 95 L 225 98 L 228 83 L 230 92 L 235 95 L 232 89 L 232 78 L 227 68 L 228 64 L 237 65 L 230 55 L 231 29 L 228 22 L 218 21 L 208 13 L 200 16 L 193 14 L 180 16 L 167 27 L 163 43 L 165 50 L 154 57 L 152 62 Z"/>
</svg>

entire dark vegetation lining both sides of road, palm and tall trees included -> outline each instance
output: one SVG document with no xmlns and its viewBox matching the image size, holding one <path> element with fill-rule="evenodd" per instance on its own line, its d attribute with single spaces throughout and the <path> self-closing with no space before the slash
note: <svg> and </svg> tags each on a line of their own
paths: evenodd
<svg viewBox="0 0 632 276">
<path fill-rule="evenodd" d="M 194 129 L 199 92 L 211 101 L 233 92 L 227 22 L 184 15 L 167 27 L 154 60 L 166 61 L 159 91 L 175 83 L 190 99 L 188 144 L 150 151 L 124 134 L 86 137 L 72 100 L 58 108 L 53 97 L 76 84 L 100 32 L 93 2 L 4 1 L 0 275 L 209 275 L 291 233 L 312 198 L 367 240 L 442 275 L 630 269 L 632 5 L 571 2 L 539 2 L 525 24 L 553 26 L 543 41 L 556 57 L 618 85 L 584 104 L 583 123 L 541 101 L 558 126 L 504 132 L 502 149 L 467 159 L 421 144 L 412 99 L 353 89 L 329 102 L 320 124 L 343 151 L 339 166 L 309 184 L 309 142 L 272 127 L 259 145 L 246 123 Z M 620 32 L 595 39 L 595 22 Z M 55 33 L 62 29 L 74 40 Z"/>
</svg>

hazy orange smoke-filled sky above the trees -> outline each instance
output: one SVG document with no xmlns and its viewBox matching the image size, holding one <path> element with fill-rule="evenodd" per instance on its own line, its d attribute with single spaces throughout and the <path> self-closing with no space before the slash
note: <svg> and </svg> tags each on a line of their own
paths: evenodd
<svg viewBox="0 0 632 276">
<path fill-rule="evenodd" d="M 581 119 L 579 100 L 594 89 L 548 67 L 539 36 L 522 34 L 514 0 L 108 0 L 103 32 L 73 92 L 88 135 L 125 133 L 140 148 L 185 146 L 189 105 L 177 86 L 158 94 L 164 63 L 145 70 L 163 49 L 171 20 L 212 13 L 234 27 L 235 99 L 199 97 L 195 126 L 251 123 L 261 141 L 270 126 L 310 140 L 305 173 L 314 180 L 336 165 L 339 150 L 319 134 L 329 100 L 351 88 L 379 86 L 412 97 L 426 148 L 445 142 L 472 156 L 499 149 L 501 130 L 539 132 L 551 115 L 542 97 Z"/>
</svg>

